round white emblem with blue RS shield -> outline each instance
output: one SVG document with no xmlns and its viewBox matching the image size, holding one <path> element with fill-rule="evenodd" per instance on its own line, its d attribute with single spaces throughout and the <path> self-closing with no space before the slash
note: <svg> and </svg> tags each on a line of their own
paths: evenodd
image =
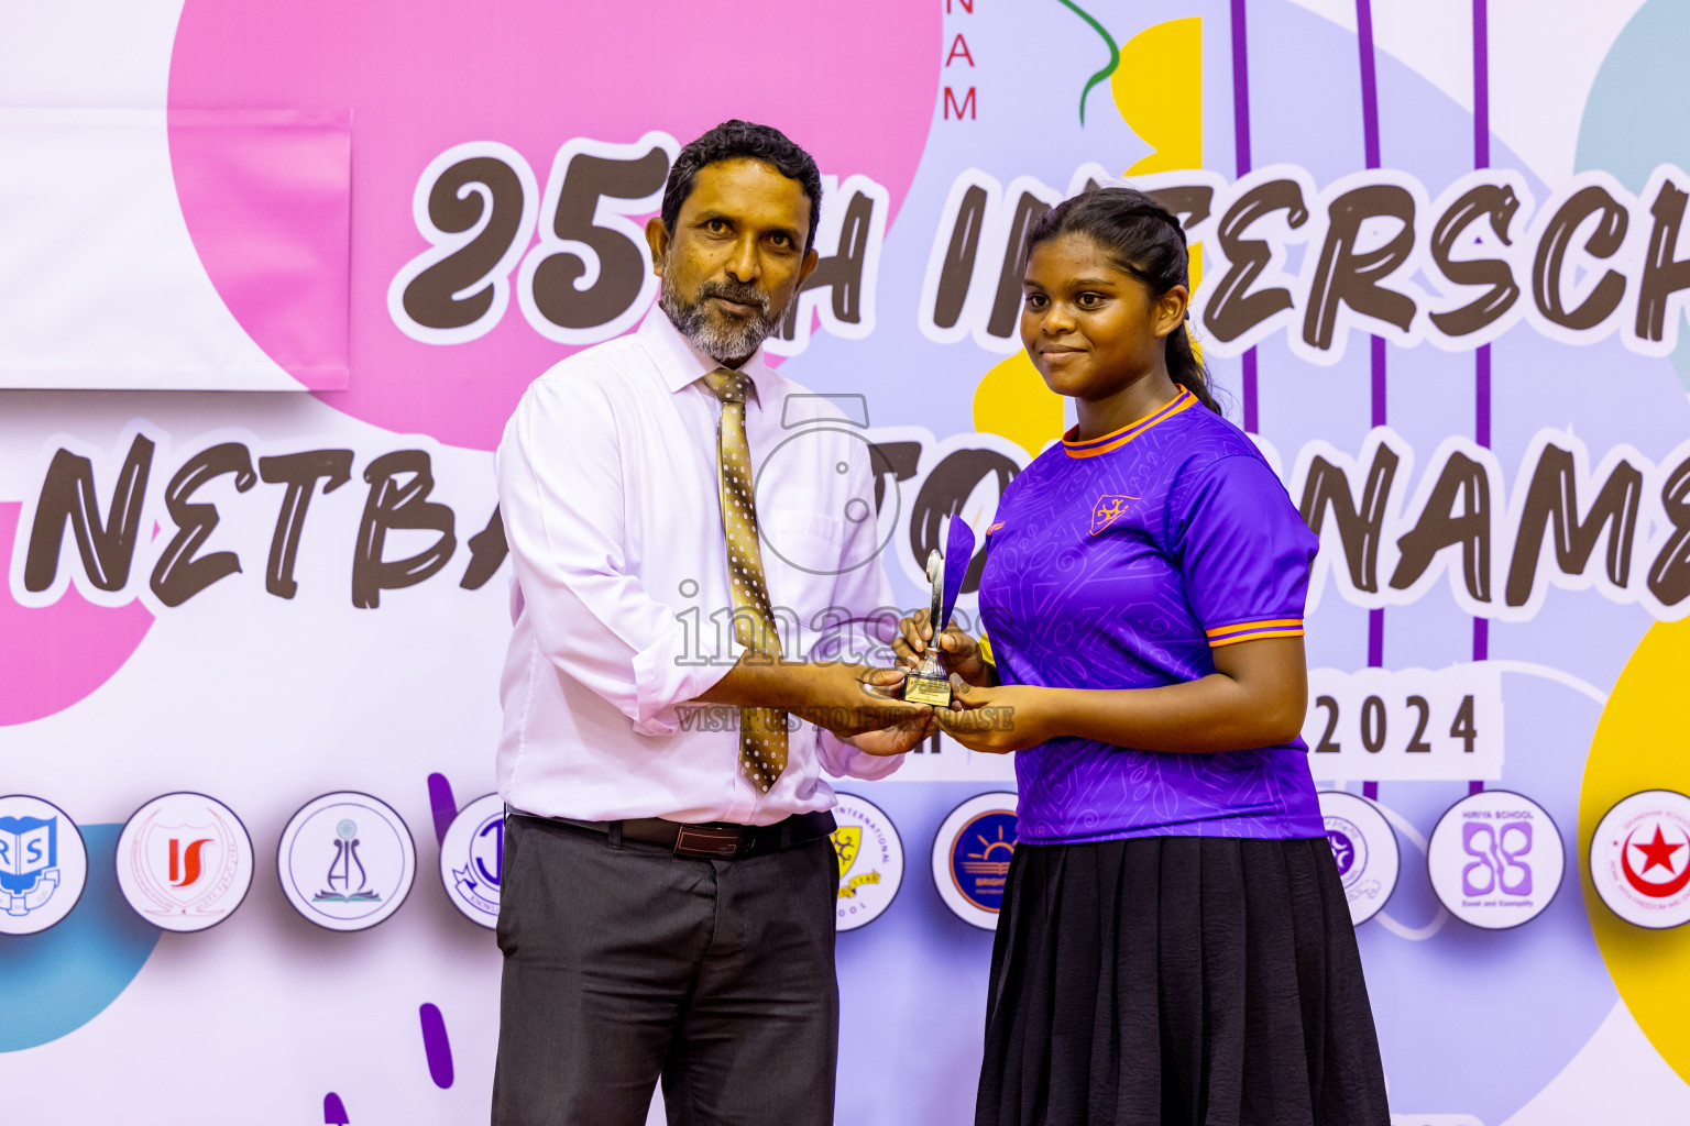
<svg viewBox="0 0 1690 1126">
<path fill-rule="evenodd" d="M 0 935 L 32 935 L 71 913 L 88 883 L 76 822 L 27 793 L 0 797 Z"/>
</svg>

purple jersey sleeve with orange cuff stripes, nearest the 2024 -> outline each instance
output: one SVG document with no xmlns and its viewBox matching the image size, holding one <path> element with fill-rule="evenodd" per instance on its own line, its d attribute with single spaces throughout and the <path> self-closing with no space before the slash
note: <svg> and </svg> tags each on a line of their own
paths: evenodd
<svg viewBox="0 0 1690 1126">
<path fill-rule="evenodd" d="M 1171 500 L 1180 572 L 1210 648 L 1303 636 L 1320 540 L 1268 464 L 1249 454 L 1220 457 Z"/>
</svg>

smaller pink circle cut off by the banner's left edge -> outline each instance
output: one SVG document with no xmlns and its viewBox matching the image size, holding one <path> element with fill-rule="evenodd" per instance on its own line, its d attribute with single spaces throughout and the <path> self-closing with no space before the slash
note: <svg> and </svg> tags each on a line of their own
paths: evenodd
<svg viewBox="0 0 1690 1126">
<path fill-rule="evenodd" d="M 0 503 L 0 576 L 12 566 L 17 501 Z M 61 712 L 123 667 L 152 626 L 140 603 L 95 606 L 71 586 L 52 606 L 19 606 L 0 596 L 0 726 Z"/>
</svg>

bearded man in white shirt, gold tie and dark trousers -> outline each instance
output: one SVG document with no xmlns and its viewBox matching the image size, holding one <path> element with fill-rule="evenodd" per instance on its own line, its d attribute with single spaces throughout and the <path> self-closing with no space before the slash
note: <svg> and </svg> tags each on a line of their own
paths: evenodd
<svg viewBox="0 0 1690 1126">
<path fill-rule="evenodd" d="M 897 620 L 867 444 L 762 360 L 820 203 L 777 130 L 686 145 L 646 228 L 659 309 L 536 380 L 499 447 L 499 1126 L 639 1126 L 659 1077 L 671 1124 L 833 1123 L 821 770 L 891 773 L 931 712 L 801 648 Z"/>
</svg>

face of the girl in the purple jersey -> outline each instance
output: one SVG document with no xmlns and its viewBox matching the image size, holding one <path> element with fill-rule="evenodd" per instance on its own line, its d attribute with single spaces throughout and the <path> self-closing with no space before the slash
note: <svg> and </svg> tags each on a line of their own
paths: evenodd
<svg viewBox="0 0 1690 1126">
<path fill-rule="evenodd" d="M 1022 280 L 1021 343 L 1058 395 L 1100 400 L 1163 370 L 1166 338 L 1185 321 L 1186 289 L 1163 295 L 1110 263 L 1088 235 L 1033 248 Z"/>
</svg>

